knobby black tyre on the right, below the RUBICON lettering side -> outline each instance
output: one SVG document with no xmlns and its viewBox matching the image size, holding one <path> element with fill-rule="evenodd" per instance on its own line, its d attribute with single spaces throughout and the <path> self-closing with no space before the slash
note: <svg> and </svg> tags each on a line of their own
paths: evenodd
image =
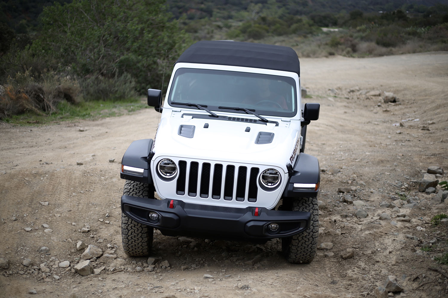
<svg viewBox="0 0 448 298">
<path fill-rule="evenodd" d="M 290 210 L 311 213 L 310 227 L 301 234 L 281 239 L 283 254 L 289 263 L 310 263 L 316 254 L 319 235 L 319 210 L 316 197 L 300 197 L 292 201 Z"/>
</svg>

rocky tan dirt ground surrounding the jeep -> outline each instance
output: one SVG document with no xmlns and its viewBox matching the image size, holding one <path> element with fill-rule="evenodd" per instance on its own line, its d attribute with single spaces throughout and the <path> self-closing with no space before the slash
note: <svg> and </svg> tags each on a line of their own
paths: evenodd
<svg viewBox="0 0 448 298">
<path fill-rule="evenodd" d="M 151 257 L 126 256 L 120 160 L 133 140 L 154 136 L 152 109 L 3 123 L 0 296 L 447 297 L 448 267 L 434 257 L 448 252 L 448 225 L 431 218 L 448 213 L 435 183 L 448 180 L 448 53 L 301 65 L 306 101 L 321 104 L 306 143 L 322 169 L 311 264 L 287 263 L 278 240 L 158 231 Z"/>
</svg>

